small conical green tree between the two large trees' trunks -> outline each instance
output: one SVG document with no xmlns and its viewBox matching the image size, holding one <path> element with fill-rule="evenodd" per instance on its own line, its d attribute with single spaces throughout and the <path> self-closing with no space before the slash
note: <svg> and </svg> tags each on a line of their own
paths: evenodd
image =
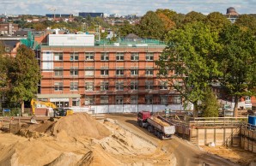
<svg viewBox="0 0 256 166">
<path fill-rule="evenodd" d="M 219 104 L 216 95 L 211 91 L 210 87 L 206 88 L 204 98 L 202 100 L 204 117 L 217 117 Z"/>
</svg>

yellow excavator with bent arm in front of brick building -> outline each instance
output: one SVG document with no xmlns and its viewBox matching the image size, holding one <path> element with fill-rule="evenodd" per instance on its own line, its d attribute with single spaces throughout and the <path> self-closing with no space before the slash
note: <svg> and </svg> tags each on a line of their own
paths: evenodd
<svg viewBox="0 0 256 166">
<path fill-rule="evenodd" d="M 32 99 L 30 104 L 31 104 L 31 110 L 32 110 L 33 115 L 35 115 L 35 110 L 36 110 L 38 104 L 44 105 L 45 106 L 44 108 L 52 109 L 53 117 L 70 116 L 70 115 L 74 114 L 73 110 L 65 109 L 65 108 L 58 108 L 52 102 L 44 102 L 44 101 L 39 101 L 39 100 Z"/>
</svg>

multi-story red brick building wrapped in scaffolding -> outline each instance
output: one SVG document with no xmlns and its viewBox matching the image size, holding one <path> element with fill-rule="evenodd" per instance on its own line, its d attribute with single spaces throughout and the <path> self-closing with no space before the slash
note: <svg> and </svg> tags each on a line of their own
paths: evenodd
<svg viewBox="0 0 256 166">
<path fill-rule="evenodd" d="M 136 40 L 136 39 L 135 39 Z M 94 35 L 49 34 L 40 46 L 39 99 L 98 112 L 179 110 L 180 96 L 157 78 L 165 44 L 94 44 Z"/>
</svg>

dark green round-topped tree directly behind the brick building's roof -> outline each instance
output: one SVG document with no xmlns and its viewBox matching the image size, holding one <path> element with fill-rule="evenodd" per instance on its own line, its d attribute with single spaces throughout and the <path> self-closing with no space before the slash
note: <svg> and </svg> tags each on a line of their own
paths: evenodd
<svg viewBox="0 0 256 166">
<path fill-rule="evenodd" d="M 138 24 L 138 35 L 142 38 L 163 39 L 165 28 L 164 23 L 153 11 L 143 15 Z"/>
</svg>

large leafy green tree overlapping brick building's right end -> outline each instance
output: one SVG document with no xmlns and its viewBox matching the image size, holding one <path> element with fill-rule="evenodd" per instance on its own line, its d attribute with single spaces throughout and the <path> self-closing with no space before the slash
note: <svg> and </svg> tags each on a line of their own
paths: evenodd
<svg viewBox="0 0 256 166">
<path fill-rule="evenodd" d="M 216 33 L 196 22 L 170 32 L 168 37 L 168 46 L 156 62 L 159 77 L 168 78 L 168 85 L 194 105 L 194 116 L 198 116 L 198 101 L 204 98 L 211 76 L 219 74 L 214 61 L 214 52 L 219 49 Z"/>
</svg>

